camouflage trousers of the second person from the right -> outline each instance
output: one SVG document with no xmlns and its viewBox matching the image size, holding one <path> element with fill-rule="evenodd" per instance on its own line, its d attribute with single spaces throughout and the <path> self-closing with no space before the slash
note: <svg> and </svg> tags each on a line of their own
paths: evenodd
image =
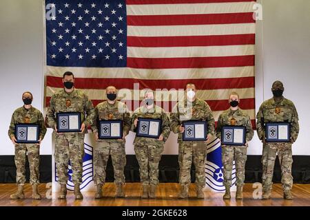
<svg viewBox="0 0 310 220">
<path fill-rule="evenodd" d="M 245 182 L 247 148 L 245 146 L 222 146 L 224 186 L 231 186 L 231 173 L 234 161 L 236 166 L 236 185 L 243 186 Z"/>
</svg>

